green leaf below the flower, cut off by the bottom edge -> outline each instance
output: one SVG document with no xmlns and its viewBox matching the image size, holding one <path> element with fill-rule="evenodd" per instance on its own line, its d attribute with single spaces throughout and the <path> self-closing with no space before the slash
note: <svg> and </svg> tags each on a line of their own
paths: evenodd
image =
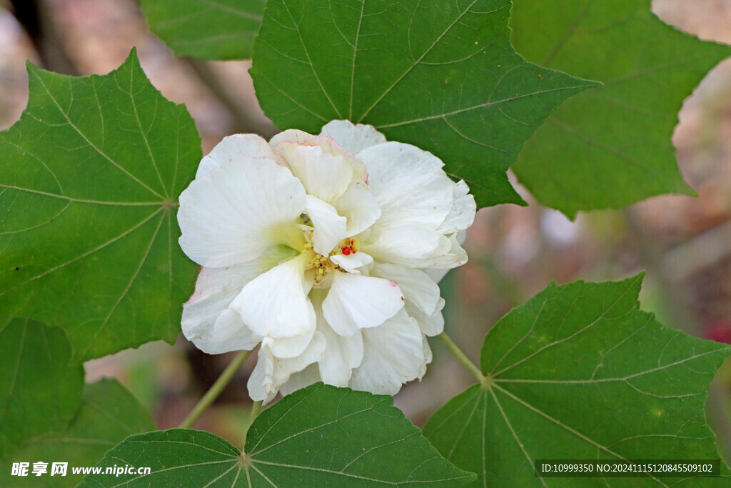
<svg viewBox="0 0 731 488">
<path fill-rule="evenodd" d="M 458 486 L 455 468 L 393 408 L 391 397 L 317 383 L 262 411 L 243 455 L 209 432 L 171 429 L 134 435 L 99 466 L 149 466 L 151 474 L 86 476 L 81 486 L 135 480 L 152 487 L 332 487 L 353 484 Z"/>
</svg>

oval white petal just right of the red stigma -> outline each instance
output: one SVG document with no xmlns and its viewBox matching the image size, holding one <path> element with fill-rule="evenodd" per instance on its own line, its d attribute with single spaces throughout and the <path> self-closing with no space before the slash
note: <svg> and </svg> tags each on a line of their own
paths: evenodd
<svg viewBox="0 0 731 488">
<path fill-rule="evenodd" d="M 401 264 L 409 268 L 432 268 L 436 267 L 437 262 L 449 260 L 455 261 L 454 266 L 458 266 L 458 259 L 449 256 L 452 249 L 450 239 L 417 225 L 390 228 L 375 238 L 374 242 L 361 244 L 360 249 L 378 262 Z"/>
</svg>

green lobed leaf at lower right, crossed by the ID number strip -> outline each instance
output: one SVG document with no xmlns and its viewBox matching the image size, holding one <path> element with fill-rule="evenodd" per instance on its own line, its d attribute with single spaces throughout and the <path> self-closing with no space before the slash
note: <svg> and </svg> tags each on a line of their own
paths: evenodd
<svg viewBox="0 0 731 488">
<path fill-rule="evenodd" d="M 535 459 L 719 459 L 704 404 L 731 349 L 640 311 L 641 281 L 553 284 L 513 309 L 485 339 L 485 383 L 444 405 L 425 436 L 480 486 L 538 486 Z"/>
</svg>

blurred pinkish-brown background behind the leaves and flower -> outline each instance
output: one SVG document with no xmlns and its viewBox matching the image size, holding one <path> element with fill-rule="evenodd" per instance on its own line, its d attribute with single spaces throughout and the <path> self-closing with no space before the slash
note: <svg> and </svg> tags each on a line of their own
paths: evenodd
<svg viewBox="0 0 731 488">
<path fill-rule="evenodd" d="M 37 12 L 29 10 L 33 5 Z M 731 0 L 655 0 L 654 11 L 702 39 L 731 44 Z M 267 138 L 276 132 L 254 97 L 248 61 L 176 59 L 149 33 L 135 0 L 0 0 L 0 129 L 14 124 L 26 106 L 27 60 L 67 74 L 104 74 L 135 45 L 154 85 L 168 99 L 186 104 L 204 154 L 234 132 Z M 666 326 L 731 342 L 731 60 L 710 72 L 686 100 L 673 142 L 698 198 L 652 198 L 621 211 L 583 213 L 575 222 L 534 204 L 477 214 L 466 242 L 469 263 L 442 284 L 447 331 L 471 359 L 479 359 L 485 333 L 496 320 L 551 280 L 621 279 L 641 269 L 648 271 L 643 309 Z M 395 399 L 416 424 L 471 383 L 438 341 L 432 346 L 435 360 L 424 380 L 406 386 Z M 253 360 L 196 427 L 238 445 Z M 89 380 L 119 378 L 164 429 L 186 416 L 228 361 L 230 356 L 205 355 L 181 338 L 175 347 L 151 343 L 90 361 L 86 371 Z M 708 412 L 728 461 L 731 361 L 711 388 Z"/>
</svg>

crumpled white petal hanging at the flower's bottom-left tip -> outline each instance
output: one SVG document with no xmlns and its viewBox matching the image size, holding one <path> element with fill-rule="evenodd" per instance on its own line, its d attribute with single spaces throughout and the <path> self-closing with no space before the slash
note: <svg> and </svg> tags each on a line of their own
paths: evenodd
<svg viewBox="0 0 731 488">
<path fill-rule="evenodd" d="M 265 337 L 262 340 L 262 347 L 259 349 L 257 366 L 249 377 L 249 397 L 254 401 L 262 401 L 265 404 L 276 397 L 279 388 L 287 383 L 289 377 L 298 371 L 305 369 L 309 364 L 322 359 L 325 350 L 325 337 L 315 332 L 307 348 L 302 354 L 294 358 L 281 359 L 274 356 L 272 343 L 276 339 Z"/>
</svg>

